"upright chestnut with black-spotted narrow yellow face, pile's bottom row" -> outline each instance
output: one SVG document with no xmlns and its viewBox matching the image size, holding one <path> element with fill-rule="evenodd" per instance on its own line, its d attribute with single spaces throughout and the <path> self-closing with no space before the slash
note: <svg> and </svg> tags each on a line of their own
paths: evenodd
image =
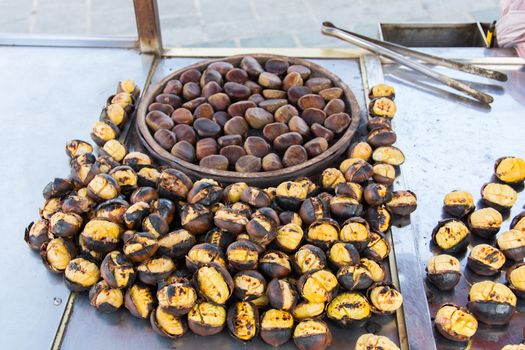
<svg viewBox="0 0 525 350">
<path fill-rule="evenodd" d="M 227 323 L 235 338 L 252 340 L 259 332 L 259 312 L 249 301 L 239 301 L 228 309 Z"/>
</svg>

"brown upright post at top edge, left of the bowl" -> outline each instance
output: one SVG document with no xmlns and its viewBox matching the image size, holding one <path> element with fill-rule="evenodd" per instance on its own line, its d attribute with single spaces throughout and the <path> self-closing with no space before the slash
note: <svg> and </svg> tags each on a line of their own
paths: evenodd
<svg viewBox="0 0 525 350">
<path fill-rule="evenodd" d="M 162 36 L 160 32 L 157 0 L 133 0 L 140 51 L 160 55 Z"/>
</svg>

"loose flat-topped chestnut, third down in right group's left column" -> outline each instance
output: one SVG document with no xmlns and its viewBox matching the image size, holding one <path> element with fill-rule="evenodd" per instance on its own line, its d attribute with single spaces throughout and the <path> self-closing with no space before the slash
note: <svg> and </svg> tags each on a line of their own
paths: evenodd
<svg viewBox="0 0 525 350">
<path fill-rule="evenodd" d="M 427 263 L 427 277 L 439 290 L 451 290 L 461 278 L 459 260 L 447 254 L 431 257 Z"/>
</svg>

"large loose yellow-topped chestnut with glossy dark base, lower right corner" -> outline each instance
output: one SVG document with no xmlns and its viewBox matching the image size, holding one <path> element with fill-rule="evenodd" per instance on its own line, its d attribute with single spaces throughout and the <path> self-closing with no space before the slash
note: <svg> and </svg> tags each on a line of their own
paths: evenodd
<svg viewBox="0 0 525 350">
<path fill-rule="evenodd" d="M 514 314 L 516 296 L 504 284 L 482 281 L 470 287 L 467 307 L 478 321 L 488 325 L 505 325 Z"/>
</svg>

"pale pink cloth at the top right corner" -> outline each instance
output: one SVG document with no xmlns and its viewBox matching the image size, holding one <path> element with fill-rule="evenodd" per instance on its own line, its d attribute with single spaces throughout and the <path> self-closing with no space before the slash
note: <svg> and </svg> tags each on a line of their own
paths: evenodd
<svg viewBox="0 0 525 350">
<path fill-rule="evenodd" d="M 525 57 L 525 0 L 501 0 L 500 20 L 496 35 L 500 47 L 514 47 Z"/>
</svg>

